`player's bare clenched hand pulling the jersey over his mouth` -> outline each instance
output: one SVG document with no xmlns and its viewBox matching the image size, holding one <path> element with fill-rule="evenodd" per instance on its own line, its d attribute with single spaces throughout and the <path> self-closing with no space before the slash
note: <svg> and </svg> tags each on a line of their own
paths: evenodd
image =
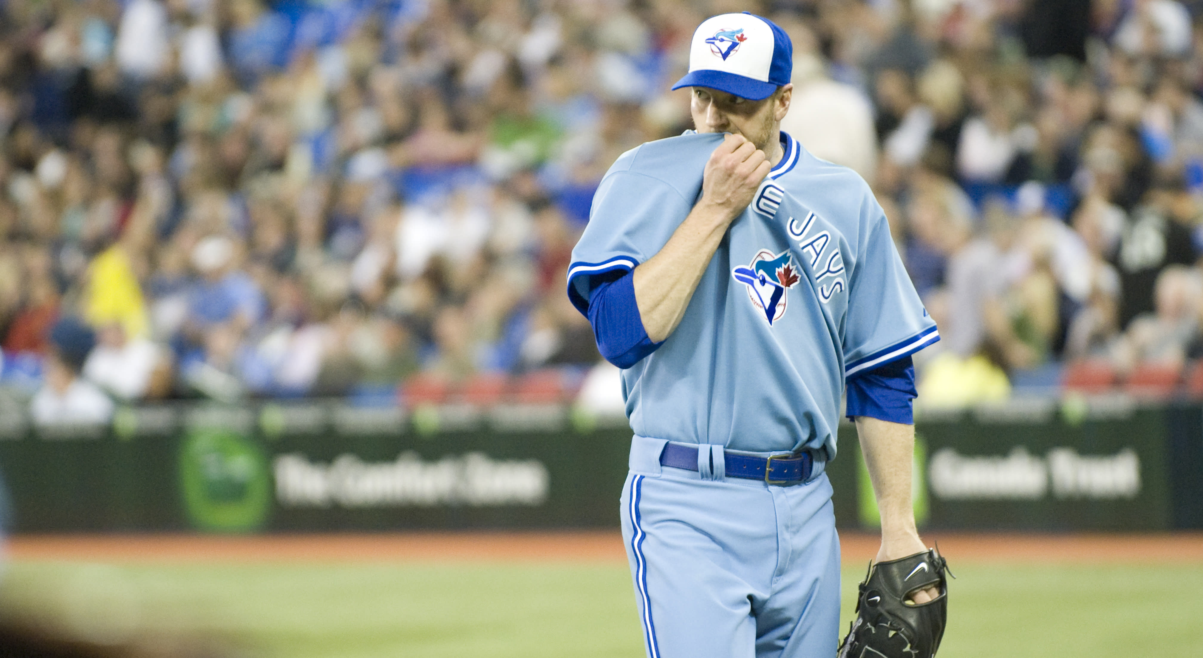
<svg viewBox="0 0 1203 658">
<path fill-rule="evenodd" d="M 701 178 L 701 201 L 731 221 L 752 203 L 772 165 L 765 153 L 742 135 L 728 135 L 710 154 Z"/>
</svg>

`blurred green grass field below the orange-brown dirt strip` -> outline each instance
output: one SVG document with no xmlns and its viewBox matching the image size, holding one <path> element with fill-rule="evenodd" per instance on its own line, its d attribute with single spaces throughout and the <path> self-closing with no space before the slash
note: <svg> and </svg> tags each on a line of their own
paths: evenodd
<svg viewBox="0 0 1203 658">
<path fill-rule="evenodd" d="M 1203 656 L 1203 564 L 956 565 L 948 658 Z M 843 573 L 852 613 L 861 568 Z M 11 562 L 0 607 L 115 642 L 146 632 L 289 658 L 642 656 L 626 565 Z"/>
</svg>

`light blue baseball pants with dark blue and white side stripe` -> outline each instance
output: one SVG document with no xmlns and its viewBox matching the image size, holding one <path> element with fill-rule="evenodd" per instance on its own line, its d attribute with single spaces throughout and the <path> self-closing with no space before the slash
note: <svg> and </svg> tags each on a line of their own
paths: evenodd
<svg viewBox="0 0 1203 658">
<path fill-rule="evenodd" d="M 665 443 L 634 438 L 622 492 L 647 656 L 835 656 L 840 539 L 826 475 L 780 486 L 662 467 Z"/>
</svg>

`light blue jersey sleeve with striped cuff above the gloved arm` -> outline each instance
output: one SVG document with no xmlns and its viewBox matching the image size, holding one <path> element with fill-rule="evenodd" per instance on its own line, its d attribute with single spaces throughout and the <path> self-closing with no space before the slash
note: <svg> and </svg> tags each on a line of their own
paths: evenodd
<svg viewBox="0 0 1203 658">
<path fill-rule="evenodd" d="M 890 239 L 885 213 L 866 190 L 861 244 L 848 281 L 845 378 L 914 354 L 940 340 Z"/>
</svg>

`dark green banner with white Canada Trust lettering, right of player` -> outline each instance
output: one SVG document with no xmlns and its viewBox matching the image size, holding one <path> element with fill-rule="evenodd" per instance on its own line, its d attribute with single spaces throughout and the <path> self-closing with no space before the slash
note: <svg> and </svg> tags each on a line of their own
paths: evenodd
<svg viewBox="0 0 1203 658">
<path fill-rule="evenodd" d="M 920 415 L 915 499 L 920 524 L 956 529 L 1151 530 L 1171 527 L 1166 419 L 1131 402 L 1079 409 L 1013 401 Z M 841 426 L 831 466 L 837 518 L 877 523 L 855 429 Z M 838 480 L 838 481 L 837 481 Z"/>
</svg>

